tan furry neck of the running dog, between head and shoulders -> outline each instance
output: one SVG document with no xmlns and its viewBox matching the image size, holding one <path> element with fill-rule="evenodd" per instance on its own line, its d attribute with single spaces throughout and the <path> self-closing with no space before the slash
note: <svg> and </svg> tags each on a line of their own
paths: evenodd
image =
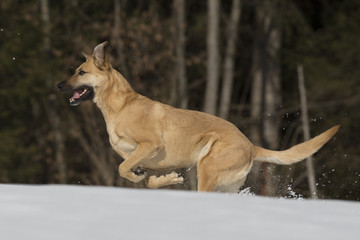
<svg viewBox="0 0 360 240">
<path fill-rule="evenodd" d="M 108 72 L 108 81 L 101 88 L 95 89 L 94 102 L 102 111 L 105 119 L 121 111 L 127 99 L 138 94 L 128 81 L 115 69 Z"/>
</svg>

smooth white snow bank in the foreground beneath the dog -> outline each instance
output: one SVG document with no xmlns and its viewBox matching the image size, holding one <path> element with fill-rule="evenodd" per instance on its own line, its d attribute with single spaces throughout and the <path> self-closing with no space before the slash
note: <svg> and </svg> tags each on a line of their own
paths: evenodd
<svg viewBox="0 0 360 240">
<path fill-rule="evenodd" d="M 0 184 L 0 239 L 359 239 L 360 203 Z"/>
</svg>

